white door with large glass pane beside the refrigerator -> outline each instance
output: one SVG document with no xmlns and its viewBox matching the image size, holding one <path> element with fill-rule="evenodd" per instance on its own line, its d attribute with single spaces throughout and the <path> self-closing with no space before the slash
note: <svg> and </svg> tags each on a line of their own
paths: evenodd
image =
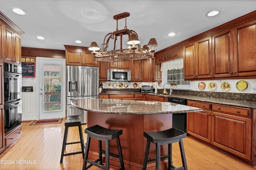
<svg viewBox="0 0 256 170">
<path fill-rule="evenodd" d="M 65 59 L 36 58 L 39 82 L 39 119 L 66 116 Z"/>
</svg>

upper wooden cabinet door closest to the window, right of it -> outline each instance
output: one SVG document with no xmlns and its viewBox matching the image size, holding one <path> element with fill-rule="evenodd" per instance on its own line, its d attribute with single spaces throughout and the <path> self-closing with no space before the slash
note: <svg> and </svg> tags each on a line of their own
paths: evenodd
<svg viewBox="0 0 256 170">
<path fill-rule="evenodd" d="M 184 79 L 194 79 L 196 78 L 196 53 L 195 53 L 195 43 L 189 43 L 183 47 L 184 56 Z"/>
</svg>

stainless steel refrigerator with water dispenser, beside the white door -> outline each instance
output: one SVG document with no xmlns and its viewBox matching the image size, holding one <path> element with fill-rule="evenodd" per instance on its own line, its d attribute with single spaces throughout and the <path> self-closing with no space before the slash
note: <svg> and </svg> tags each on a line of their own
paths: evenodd
<svg viewBox="0 0 256 170">
<path fill-rule="evenodd" d="M 71 105 L 72 99 L 98 98 L 98 67 L 67 66 L 67 109 L 66 115 L 81 115 L 81 123 L 87 123 L 87 111 Z"/>
</svg>

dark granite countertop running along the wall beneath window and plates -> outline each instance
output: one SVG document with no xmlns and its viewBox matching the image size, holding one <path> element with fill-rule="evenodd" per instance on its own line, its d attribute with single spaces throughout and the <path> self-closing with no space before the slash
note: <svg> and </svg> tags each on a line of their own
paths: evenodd
<svg viewBox="0 0 256 170">
<path fill-rule="evenodd" d="M 144 92 L 108 92 L 102 94 L 149 94 L 152 96 L 160 96 L 160 97 L 173 97 L 187 100 L 195 100 L 199 102 L 208 102 L 212 104 L 224 104 L 228 106 L 237 106 L 237 107 L 246 107 L 251 109 L 256 109 L 256 102 L 252 101 L 243 101 L 243 100 L 231 100 L 231 99 L 222 99 L 222 98 L 210 98 L 210 97 L 202 97 L 202 96 L 191 96 L 191 95 L 177 95 L 177 94 L 162 94 L 162 93 L 144 93 Z"/>
</svg>

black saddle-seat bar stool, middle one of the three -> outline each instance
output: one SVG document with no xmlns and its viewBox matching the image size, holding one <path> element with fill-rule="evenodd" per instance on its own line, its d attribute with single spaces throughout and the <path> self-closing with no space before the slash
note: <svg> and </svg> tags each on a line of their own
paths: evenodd
<svg viewBox="0 0 256 170">
<path fill-rule="evenodd" d="M 92 127 L 88 127 L 84 130 L 84 133 L 87 133 L 87 141 L 86 141 L 86 147 L 85 147 L 85 157 L 84 157 L 84 164 L 83 164 L 83 170 L 87 170 L 91 166 L 97 166 L 98 168 L 101 168 L 103 170 L 109 170 L 110 168 L 110 156 L 113 156 L 115 158 L 119 158 L 120 160 L 120 170 L 124 170 L 124 160 L 122 156 L 122 150 L 121 150 L 121 144 L 119 136 L 122 135 L 122 130 L 113 130 L 113 129 L 106 129 L 104 127 L 101 127 L 99 125 L 94 125 Z M 99 145 L 99 158 L 95 161 L 88 159 L 88 153 L 89 153 L 89 147 L 90 147 L 90 140 L 91 138 L 98 139 L 98 145 Z M 110 153 L 110 141 L 113 139 L 116 139 L 116 144 L 118 148 L 118 155 Z M 105 150 L 102 150 L 102 141 L 105 141 Z M 102 165 L 102 154 L 105 154 L 105 165 Z M 87 166 L 87 162 L 89 165 Z M 99 163 L 98 163 L 99 162 Z"/>
</svg>

